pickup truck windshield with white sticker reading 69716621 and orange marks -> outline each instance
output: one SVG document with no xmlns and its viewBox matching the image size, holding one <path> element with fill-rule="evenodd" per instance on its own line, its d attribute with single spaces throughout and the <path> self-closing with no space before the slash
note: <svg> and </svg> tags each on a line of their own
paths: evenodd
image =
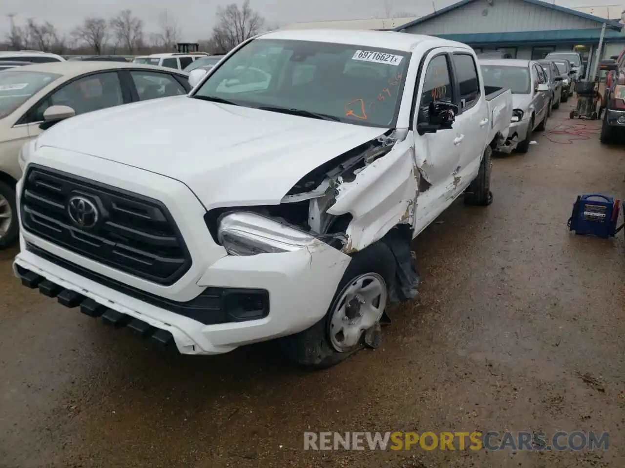
<svg viewBox="0 0 625 468">
<path fill-rule="evenodd" d="M 193 97 L 393 127 L 409 59 L 379 47 L 261 38 L 222 63 Z"/>
</svg>

